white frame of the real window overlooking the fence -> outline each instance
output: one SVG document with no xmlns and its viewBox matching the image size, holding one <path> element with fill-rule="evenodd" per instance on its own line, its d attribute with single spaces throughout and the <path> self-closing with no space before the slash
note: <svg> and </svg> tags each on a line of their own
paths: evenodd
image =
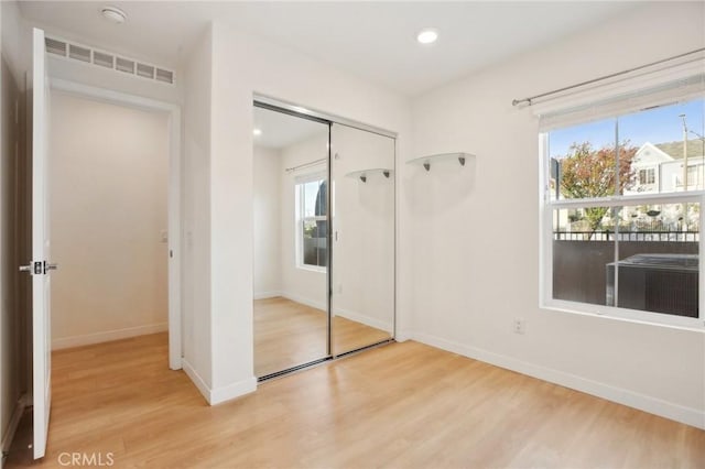
<svg viewBox="0 0 705 469">
<path fill-rule="evenodd" d="M 621 207 L 632 205 L 659 205 L 699 203 L 701 210 L 705 207 L 705 190 L 690 190 L 687 193 L 644 194 L 628 196 L 611 196 L 601 198 L 560 199 L 552 200 L 550 188 L 549 165 L 549 132 L 539 134 L 540 161 L 540 307 L 543 309 L 574 313 L 588 316 L 627 320 L 631 323 L 653 324 L 673 328 L 705 331 L 705 250 L 703 250 L 703 228 L 705 217 L 699 218 L 699 272 L 698 272 L 698 314 L 699 318 L 651 313 L 646 310 L 627 309 L 616 306 L 605 306 L 589 303 L 571 302 L 553 298 L 553 210 L 558 208 L 583 207 Z"/>
</svg>

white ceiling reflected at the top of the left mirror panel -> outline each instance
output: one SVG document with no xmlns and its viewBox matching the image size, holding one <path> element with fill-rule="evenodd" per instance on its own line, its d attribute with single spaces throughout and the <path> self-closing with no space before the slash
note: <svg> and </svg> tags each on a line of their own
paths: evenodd
<svg viewBox="0 0 705 469">
<path fill-rule="evenodd" d="M 254 135 L 254 144 L 270 149 L 283 149 L 314 135 L 323 135 L 327 141 L 328 134 L 325 123 L 262 108 L 254 108 L 254 129 L 262 132 Z"/>
</svg>

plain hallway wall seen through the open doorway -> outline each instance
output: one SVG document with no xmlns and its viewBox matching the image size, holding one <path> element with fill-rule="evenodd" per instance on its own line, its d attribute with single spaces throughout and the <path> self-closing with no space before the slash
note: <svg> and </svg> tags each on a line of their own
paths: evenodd
<svg viewBox="0 0 705 469">
<path fill-rule="evenodd" d="M 52 94 L 53 348 L 166 330 L 167 116 Z"/>
</svg>

